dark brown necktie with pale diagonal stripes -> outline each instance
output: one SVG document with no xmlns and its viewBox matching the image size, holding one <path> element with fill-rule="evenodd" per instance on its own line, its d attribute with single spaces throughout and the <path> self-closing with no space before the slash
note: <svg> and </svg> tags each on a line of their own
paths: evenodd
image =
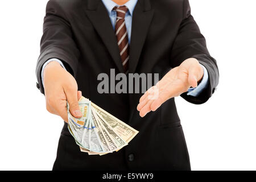
<svg viewBox="0 0 256 182">
<path fill-rule="evenodd" d="M 129 72 L 129 40 L 125 25 L 125 15 L 128 9 L 126 6 L 115 6 L 113 10 L 117 11 L 115 36 L 117 36 L 117 43 L 123 64 L 123 71 L 125 74 L 127 74 Z"/>
</svg>

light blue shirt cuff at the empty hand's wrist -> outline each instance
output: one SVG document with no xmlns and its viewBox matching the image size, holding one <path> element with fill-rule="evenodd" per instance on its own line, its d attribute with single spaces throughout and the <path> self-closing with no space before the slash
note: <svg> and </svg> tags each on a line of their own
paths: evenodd
<svg viewBox="0 0 256 182">
<path fill-rule="evenodd" d="M 197 97 L 208 86 L 208 80 L 209 80 L 208 71 L 203 65 L 201 65 L 201 67 L 204 69 L 203 80 L 200 82 L 199 85 L 197 85 L 196 88 L 189 88 L 188 89 L 188 93 L 187 93 L 188 96 Z"/>
</svg>

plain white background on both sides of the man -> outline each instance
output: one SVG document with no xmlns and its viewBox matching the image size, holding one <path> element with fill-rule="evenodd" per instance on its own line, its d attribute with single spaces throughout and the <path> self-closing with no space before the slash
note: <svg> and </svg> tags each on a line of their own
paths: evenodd
<svg viewBox="0 0 256 182">
<path fill-rule="evenodd" d="M 47 0 L 0 2 L 0 169 L 51 170 L 63 126 L 47 113 L 35 66 Z M 255 0 L 191 0 L 218 62 L 204 105 L 176 98 L 193 170 L 256 169 Z"/>
</svg>

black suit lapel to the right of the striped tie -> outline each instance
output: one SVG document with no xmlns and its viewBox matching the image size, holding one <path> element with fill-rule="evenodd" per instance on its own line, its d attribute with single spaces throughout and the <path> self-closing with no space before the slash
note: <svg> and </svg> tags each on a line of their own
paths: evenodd
<svg viewBox="0 0 256 182">
<path fill-rule="evenodd" d="M 151 9 L 149 0 L 138 1 L 133 12 L 133 24 L 131 27 L 130 73 L 134 73 L 137 67 L 153 14 L 154 11 Z"/>
</svg>

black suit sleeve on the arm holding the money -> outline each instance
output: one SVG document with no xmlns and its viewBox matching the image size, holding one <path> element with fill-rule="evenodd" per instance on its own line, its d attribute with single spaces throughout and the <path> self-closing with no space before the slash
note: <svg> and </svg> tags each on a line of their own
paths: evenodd
<svg viewBox="0 0 256 182">
<path fill-rule="evenodd" d="M 47 60 L 57 58 L 67 71 L 76 75 L 80 52 L 73 40 L 71 24 L 57 1 L 49 1 L 44 17 L 43 36 L 40 42 L 40 56 L 36 64 L 38 88 L 44 93 L 41 72 Z"/>
</svg>

